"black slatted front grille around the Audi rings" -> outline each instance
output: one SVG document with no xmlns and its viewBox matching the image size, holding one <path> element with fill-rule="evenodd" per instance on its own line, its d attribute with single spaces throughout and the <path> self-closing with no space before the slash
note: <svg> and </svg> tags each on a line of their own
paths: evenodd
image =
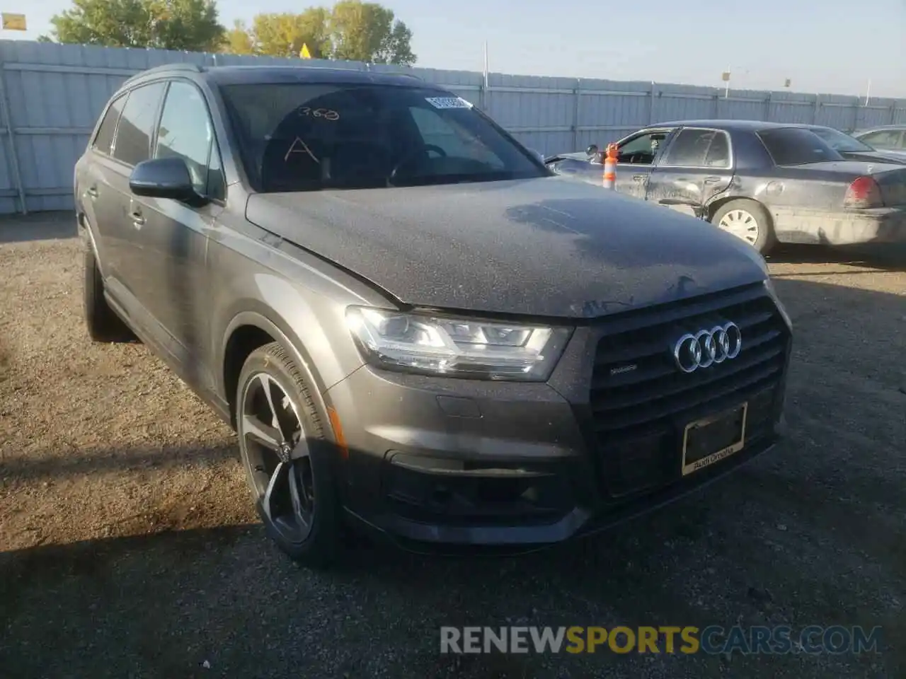
<svg viewBox="0 0 906 679">
<path fill-rule="evenodd" d="M 676 340 L 728 320 L 742 332 L 737 357 L 680 371 Z M 701 416 L 747 401 L 747 440 L 770 430 L 789 335 L 760 284 L 620 314 L 601 330 L 590 406 L 613 496 L 679 477 L 682 431 Z"/>
</svg>

